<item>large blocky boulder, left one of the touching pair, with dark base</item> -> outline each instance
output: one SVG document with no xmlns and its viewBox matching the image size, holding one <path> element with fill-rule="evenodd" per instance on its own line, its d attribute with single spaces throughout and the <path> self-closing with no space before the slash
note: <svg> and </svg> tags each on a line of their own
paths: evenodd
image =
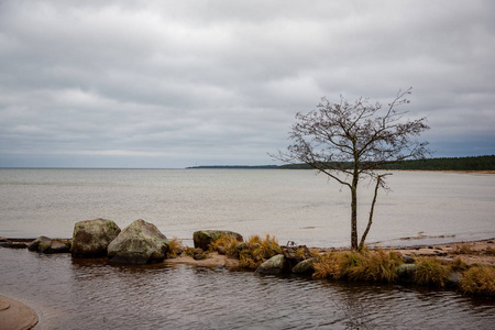
<svg viewBox="0 0 495 330">
<path fill-rule="evenodd" d="M 70 252 L 75 257 L 99 257 L 107 255 L 107 248 L 120 233 L 112 220 L 95 219 L 76 222 Z"/>
</svg>

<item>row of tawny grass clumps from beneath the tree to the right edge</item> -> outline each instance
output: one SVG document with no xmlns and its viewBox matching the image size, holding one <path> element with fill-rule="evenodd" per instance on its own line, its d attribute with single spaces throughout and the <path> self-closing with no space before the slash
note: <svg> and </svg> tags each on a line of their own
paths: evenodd
<svg viewBox="0 0 495 330">
<path fill-rule="evenodd" d="M 318 257 L 314 278 L 398 283 L 398 270 L 403 258 L 395 251 L 332 251 Z M 415 262 L 413 284 L 446 287 L 452 273 L 461 275 L 458 284 L 463 294 L 494 297 L 495 268 L 486 265 L 468 265 L 461 258 L 446 262 L 436 257 L 418 257 Z"/>
</svg>

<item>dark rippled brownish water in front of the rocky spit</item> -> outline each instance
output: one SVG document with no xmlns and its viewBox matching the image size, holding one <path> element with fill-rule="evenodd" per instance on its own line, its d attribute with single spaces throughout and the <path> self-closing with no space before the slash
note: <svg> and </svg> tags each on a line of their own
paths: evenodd
<svg viewBox="0 0 495 330">
<path fill-rule="evenodd" d="M 454 292 L 187 265 L 113 266 L 0 249 L 0 294 L 37 329 L 490 329 L 495 304 Z"/>
</svg>

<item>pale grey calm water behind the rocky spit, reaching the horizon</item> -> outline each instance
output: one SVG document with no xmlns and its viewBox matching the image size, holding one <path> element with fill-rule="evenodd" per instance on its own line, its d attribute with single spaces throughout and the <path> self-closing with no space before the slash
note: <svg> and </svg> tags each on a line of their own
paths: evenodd
<svg viewBox="0 0 495 330">
<path fill-rule="evenodd" d="M 369 242 L 495 237 L 495 175 L 397 172 L 388 183 L 393 191 L 378 196 Z M 169 238 L 227 229 L 270 233 L 282 243 L 345 246 L 348 190 L 312 170 L 0 169 L 0 235 L 69 238 L 80 220 L 107 218 L 124 228 L 144 219 Z M 371 194 L 363 183 L 361 231 Z M 427 239 L 400 240 L 418 235 Z"/>
</svg>

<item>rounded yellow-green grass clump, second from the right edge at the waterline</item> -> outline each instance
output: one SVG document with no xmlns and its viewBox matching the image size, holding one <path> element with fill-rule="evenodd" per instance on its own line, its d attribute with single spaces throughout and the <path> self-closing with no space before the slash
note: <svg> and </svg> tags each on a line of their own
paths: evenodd
<svg viewBox="0 0 495 330">
<path fill-rule="evenodd" d="M 425 286 L 444 287 L 449 278 L 450 267 L 435 257 L 417 260 L 415 283 Z"/>
</svg>

